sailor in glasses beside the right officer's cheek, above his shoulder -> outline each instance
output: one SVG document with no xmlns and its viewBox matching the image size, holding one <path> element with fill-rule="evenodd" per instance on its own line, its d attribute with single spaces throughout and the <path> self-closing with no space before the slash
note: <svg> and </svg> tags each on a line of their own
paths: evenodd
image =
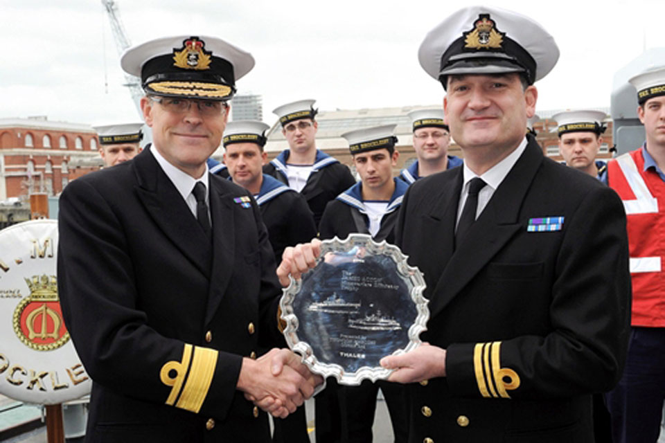
<svg viewBox="0 0 665 443">
<path fill-rule="evenodd" d="M 414 129 L 414 150 L 418 159 L 400 173 L 409 183 L 436 172 L 456 168 L 462 159 L 448 155 L 450 129 L 445 124 L 443 109 L 418 109 L 409 112 Z"/>
</svg>

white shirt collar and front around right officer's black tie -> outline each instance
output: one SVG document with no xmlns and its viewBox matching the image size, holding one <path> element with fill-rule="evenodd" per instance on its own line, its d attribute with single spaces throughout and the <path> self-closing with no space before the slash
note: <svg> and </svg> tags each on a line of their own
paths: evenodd
<svg viewBox="0 0 665 443">
<path fill-rule="evenodd" d="M 520 145 L 517 146 L 517 149 L 508 154 L 508 156 L 506 156 L 505 159 L 499 161 L 499 163 L 494 165 L 492 168 L 488 169 L 484 174 L 480 176 L 476 175 L 475 172 L 470 170 L 466 165 L 466 161 L 464 162 L 464 165 L 462 167 L 463 168 L 462 191 L 459 197 L 459 206 L 457 206 L 457 221 L 459 221 L 459 217 L 461 217 L 462 215 L 462 208 L 464 207 L 464 204 L 466 202 L 466 197 L 468 196 L 469 182 L 472 179 L 475 179 L 476 177 L 480 177 L 486 183 L 486 186 L 482 188 L 478 193 L 478 207 L 476 209 L 476 218 L 478 218 L 478 216 L 483 212 L 485 206 L 487 206 L 488 202 L 494 195 L 495 190 L 499 188 L 499 185 L 501 184 L 502 181 L 504 181 L 504 179 L 508 175 L 508 172 L 511 172 L 511 169 L 513 169 L 513 166 L 515 165 L 515 163 L 517 163 L 517 159 L 520 159 L 520 156 L 522 155 L 522 152 L 524 152 L 525 149 L 526 149 L 526 137 L 522 139 L 522 143 L 520 143 Z"/>
</svg>

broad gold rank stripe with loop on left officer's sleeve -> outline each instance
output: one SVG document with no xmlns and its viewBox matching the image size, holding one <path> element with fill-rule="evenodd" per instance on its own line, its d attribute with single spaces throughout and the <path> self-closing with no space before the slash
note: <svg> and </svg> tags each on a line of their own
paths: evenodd
<svg viewBox="0 0 665 443">
<path fill-rule="evenodd" d="M 169 361 L 159 373 L 161 382 L 172 387 L 166 404 L 198 413 L 213 381 L 217 358 L 216 350 L 185 344 L 182 360 Z"/>
</svg>

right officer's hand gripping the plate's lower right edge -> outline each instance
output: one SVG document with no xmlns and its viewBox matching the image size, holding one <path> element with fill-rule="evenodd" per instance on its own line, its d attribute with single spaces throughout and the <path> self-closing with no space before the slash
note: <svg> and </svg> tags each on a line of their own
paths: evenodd
<svg viewBox="0 0 665 443">
<path fill-rule="evenodd" d="M 445 349 L 423 343 L 415 350 L 401 355 L 391 355 L 381 359 L 386 369 L 394 369 L 388 381 L 414 383 L 445 377 Z"/>
</svg>

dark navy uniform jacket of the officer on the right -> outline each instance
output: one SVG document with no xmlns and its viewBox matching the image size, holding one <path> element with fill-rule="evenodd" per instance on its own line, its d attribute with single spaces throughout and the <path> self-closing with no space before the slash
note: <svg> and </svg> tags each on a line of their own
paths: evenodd
<svg viewBox="0 0 665 443">
<path fill-rule="evenodd" d="M 462 168 L 416 181 L 402 202 L 396 244 L 427 283 L 421 338 L 447 350 L 446 377 L 409 385 L 411 442 L 591 442 L 592 392 L 623 372 L 621 200 L 527 138 L 461 244 Z"/>
</svg>

